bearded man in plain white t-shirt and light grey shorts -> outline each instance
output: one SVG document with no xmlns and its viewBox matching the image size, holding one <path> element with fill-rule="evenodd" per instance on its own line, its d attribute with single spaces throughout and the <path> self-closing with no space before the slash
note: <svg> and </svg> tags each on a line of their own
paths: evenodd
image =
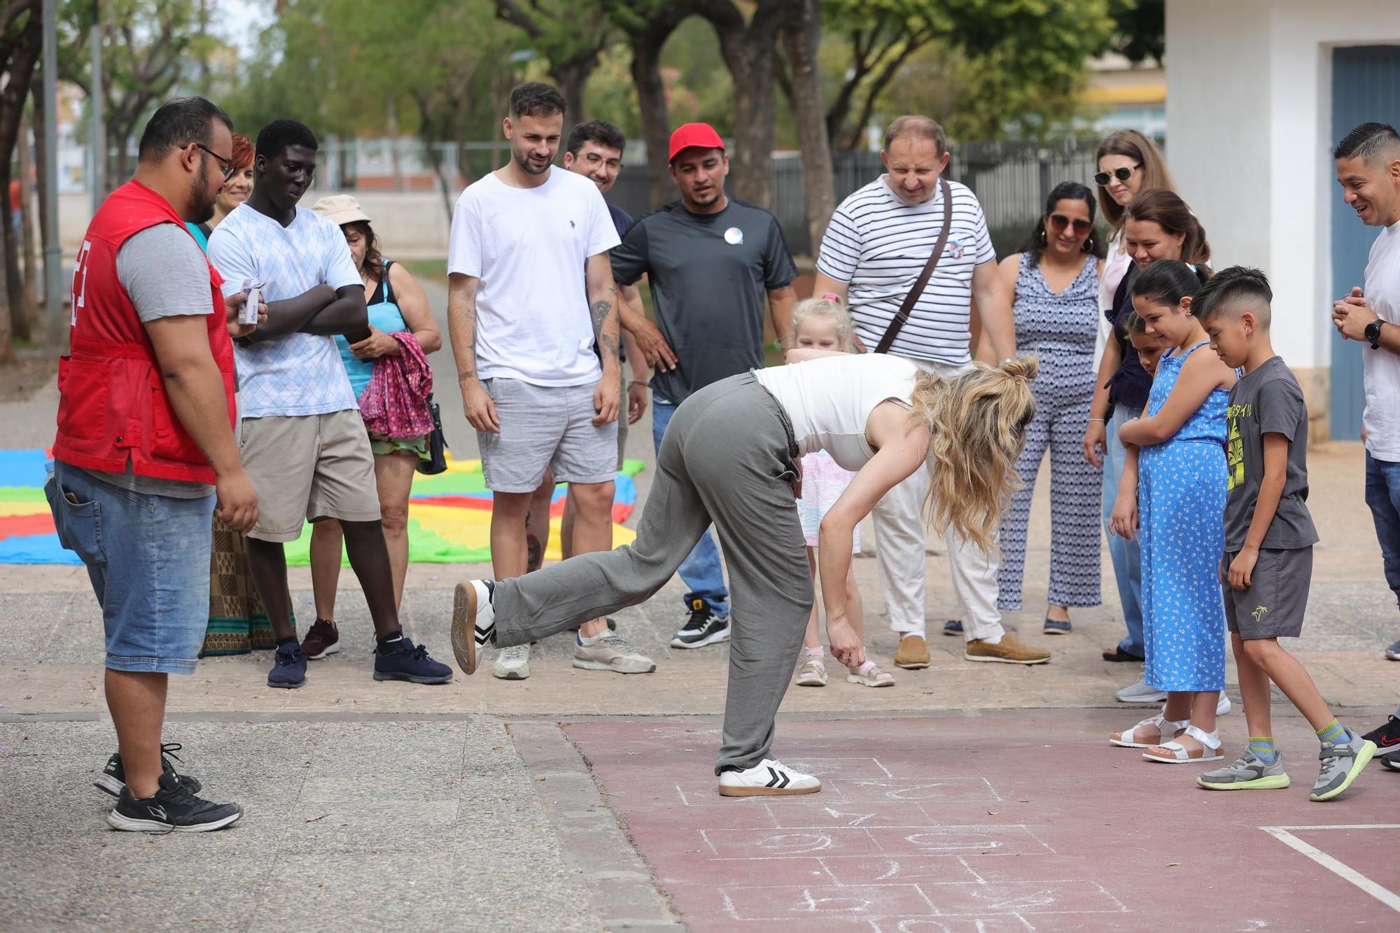
<svg viewBox="0 0 1400 933">
<path fill-rule="evenodd" d="M 608 251 L 619 241 L 598 186 L 553 168 L 563 127 L 556 88 L 528 81 L 511 91 L 511 160 L 462 192 L 448 241 L 448 332 L 494 493 L 498 580 L 525 573 L 525 516 L 546 469 L 570 483 L 574 553 L 612 551 L 622 377 Z M 633 654 L 605 619 L 585 623 L 578 643 Z M 636 672 L 651 670 L 648 661 Z M 529 646 L 504 649 L 491 672 L 529 677 Z"/>
</svg>

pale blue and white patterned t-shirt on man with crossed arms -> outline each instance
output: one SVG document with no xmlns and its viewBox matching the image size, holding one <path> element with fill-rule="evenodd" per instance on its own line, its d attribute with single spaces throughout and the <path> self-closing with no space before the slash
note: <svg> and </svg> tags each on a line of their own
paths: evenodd
<svg viewBox="0 0 1400 933">
<path fill-rule="evenodd" d="M 363 283 L 350 247 L 335 221 L 297 207 L 290 227 L 239 205 L 214 227 L 209 261 L 224 277 L 224 294 L 244 279 L 263 283 L 263 300 L 295 298 L 318 284 Z M 288 333 L 251 346 L 234 345 L 244 417 L 326 415 L 358 408 L 335 338 Z"/>
</svg>

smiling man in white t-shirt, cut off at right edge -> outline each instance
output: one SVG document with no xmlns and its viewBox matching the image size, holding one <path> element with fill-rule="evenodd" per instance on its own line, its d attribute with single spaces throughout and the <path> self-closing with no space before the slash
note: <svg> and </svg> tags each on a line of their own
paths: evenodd
<svg viewBox="0 0 1400 933">
<path fill-rule="evenodd" d="M 1338 298 L 1331 317 L 1343 338 L 1366 343 L 1366 504 L 1386 583 L 1400 598 L 1400 134 L 1385 123 L 1362 123 L 1337 143 L 1333 157 L 1341 199 L 1361 223 L 1383 227 L 1371 245 L 1365 289 Z M 1400 642 L 1386 657 L 1400 661 Z"/>
</svg>

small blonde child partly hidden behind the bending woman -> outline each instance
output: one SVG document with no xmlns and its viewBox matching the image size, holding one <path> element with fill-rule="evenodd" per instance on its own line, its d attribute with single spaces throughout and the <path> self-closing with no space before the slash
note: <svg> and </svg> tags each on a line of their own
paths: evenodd
<svg viewBox="0 0 1400 933">
<path fill-rule="evenodd" d="M 851 315 L 833 294 L 799 301 L 792 310 L 792 339 L 790 346 L 815 347 L 818 350 L 854 352 L 851 343 Z M 806 538 L 806 559 L 812 565 L 812 579 L 816 572 L 816 541 L 822 517 L 836 503 L 855 474 L 841 469 L 826 451 L 802 457 L 802 496 L 797 500 L 797 514 L 802 521 L 802 535 Z M 851 546 L 851 553 L 860 553 L 860 528 Z M 820 591 L 820 588 L 818 588 Z M 865 637 L 865 614 L 861 607 L 861 593 L 855 586 L 855 569 L 846 576 L 847 615 L 855 635 Z M 806 621 L 806 636 L 802 639 L 802 668 L 798 671 L 798 686 L 826 686 L 826 651 L 822 649 L 816 601 L 812 601 L 812 615 Z M 864 686 L 893 686 L 895 675 L 882 670 L 874 661 L 853 667 L 846 675 L 851 684 Z"/>
</svg>

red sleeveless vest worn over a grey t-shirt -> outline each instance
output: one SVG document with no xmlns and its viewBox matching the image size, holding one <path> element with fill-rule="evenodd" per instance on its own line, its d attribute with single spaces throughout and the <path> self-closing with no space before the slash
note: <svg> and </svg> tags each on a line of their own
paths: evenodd
<svg viewBox="0 0 1400 933">
<path fill-rule="evenodd" d="M 116 277 L 116 254 L 155 224 L 185 221 L 139 182 L 112 192 L 88 224 L 73 272 L 70 356 L 59 360 L 59 434 L 53 457 L 74 466 L 137 476 L 214 482 L 214 468 L 179 423 L 136 305 Z M 234 345 L 225 328 L 223 279 L 209 266 L 209 349 L 234 409 Z M 195 308 L 190 308 L 195 312 Z"/>
</svg>

